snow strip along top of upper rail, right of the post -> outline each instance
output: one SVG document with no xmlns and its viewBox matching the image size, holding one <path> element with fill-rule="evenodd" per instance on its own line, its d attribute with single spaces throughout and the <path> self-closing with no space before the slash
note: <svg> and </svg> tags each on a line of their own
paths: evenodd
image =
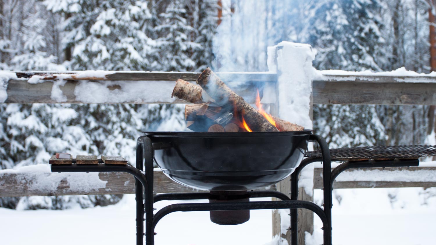
<svg viewBox="0 0 436 245">
<path fill-rule="evenodd" d="M 412 70 L 406 70 L 405 67 L 398 68 L 392 71 L 373 72 L 371 70 L 365 71 L 346 71 L 346 70 L 317 70 L 315 72 L 314 80 L 328 81 L 331 77 L 334 77 L 336 81 L 354 81 L 357 78 L 364 81 L 377 81 L 376 77 L 394 77 L 394 81 L 397 82 L 409 82 L 409 83 L 434 83 L 436 78 L 436 72 L 433 71 L 429 74 L 417 73 Z M 346 76 L 346 77 L 343 77 Z"/>
</svg>

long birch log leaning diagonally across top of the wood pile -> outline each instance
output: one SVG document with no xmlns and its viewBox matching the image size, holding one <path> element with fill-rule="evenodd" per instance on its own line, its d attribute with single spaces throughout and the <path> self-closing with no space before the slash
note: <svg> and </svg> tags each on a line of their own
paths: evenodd
<svg viewBox="0 0 436 245">
<path fill-rule="evenodd" d="M 216 104 L 233 104 L 235 111 L 243 116 L 243 119 L 247 122 L 252 131 L 279 131 L 274 125 L 269 123 L 262 114 L 256 111 L 255 108 L 245 102 L 241 96 L 235 94 L 235 92 L 227 87 L 210 68 L 207 68 L 200 74 L 200 77 L 197 79 L 197 84 L 215 100 Z"/>
</svg>

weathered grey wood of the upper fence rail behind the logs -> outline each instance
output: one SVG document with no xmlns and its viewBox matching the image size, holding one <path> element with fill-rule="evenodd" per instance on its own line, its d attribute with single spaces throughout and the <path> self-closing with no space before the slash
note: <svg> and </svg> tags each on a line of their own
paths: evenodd
<svg viewBox="0 0 436 245">
<path fill-rule="evenodd" d="M 122 72 L 91 77 L 80 72 L 65 74 L 32 72 L 17 72 L 18 79 L 11 79 L 7 86 L 7 100 L 5 103 L 186 103 L 171 98 L 174 81 L 181 78 L 186 81 L 195 81 L 199 73 L 195 72 Z M 232 85 L 232 81 L 244 81 L 246 86 L 236 86 L 235 90 L 246 95 L 247 87 L 259 87 L 262 91 L 275 94 L 277 74 L 269 72 L 259 73 L 218 73 L 220 77 Z M 41 83 L 31 84 L 27 79 L 40 76 Z M 54 80 L 63 79 L 67 82 L 60 89 L 67 97 L 66 101 L 55 101 L 51 98 Z M 105 101 L 93 101 L 92 98 L 78 99 L 76 90 L 80 81 L 94 81 L 104 86 L 104 81 L 124 81 L 134 83 L 141 91 L 153 91 L 157 96 L 144 96 L 140 99 L 132 97 L 131 100 L 119 101 L 116 97 Z M 155 91 L 156 87 L 160 91 Z M 107 83 L 109 90 L 122 90 L 123 84 Z M 319 75 L 313 81 L 313 104 L 387 104 L 387 105 L 436 105 L 436 77 L 435 76 L 368 76 L 368 75 Z M 254 99 L 248 97 L 249 102 Z M 276 103 L 271 96 L 264 97 L 265 104 Z"/>
</svg>

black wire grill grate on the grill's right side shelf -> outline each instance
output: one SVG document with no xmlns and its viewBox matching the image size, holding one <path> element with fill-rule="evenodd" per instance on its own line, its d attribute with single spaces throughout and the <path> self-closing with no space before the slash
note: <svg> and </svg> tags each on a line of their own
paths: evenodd
<svg viewBox="0 0 436 245">
<path fill-rule="evenodd" d="M 322 158 L 321 151 L 309 151 L 305 154 L 310 158 Z M 412 159 L 436 156 L 436 145 L 399 145 L 399 146 L 369 146 L 354 148 L 330 149 L 332 160 L 360 161 L 368 159 Z"/>
</svg>

